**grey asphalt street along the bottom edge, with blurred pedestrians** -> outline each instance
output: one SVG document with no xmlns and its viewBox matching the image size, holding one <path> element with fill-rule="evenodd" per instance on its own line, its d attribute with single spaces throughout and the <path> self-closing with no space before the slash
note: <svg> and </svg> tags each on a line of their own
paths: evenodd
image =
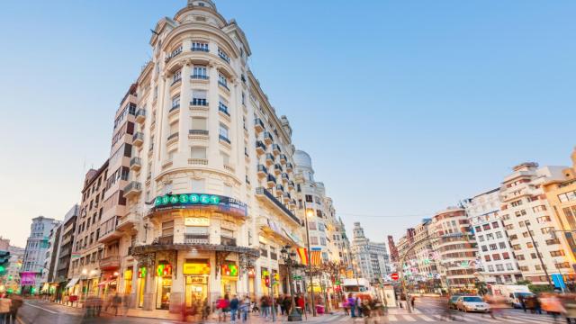
<svg viewBox="0 0 576 324">
<path fill-rule="evenodd" d="M 56 305 L 49 302 L 27 301 L 19 312 L 19 318 L 22 324 L 77 324 L 77 323 L 182 323 L 172 320 L 153 320 L 131 317 L 112 317 L 104 315 L 97 320 L 83 320 L 83 312 L 80 309 L 71 308 L 62 305 Z M 451 315 L 455 320 L 446 317 L 446 311 L 443 303 L 435 298 L 419 298 L 416 302 L 416 311 L 407 313 L 401 309 L 391 309 L 390 313 L 383 318 L 371 318 L 369 323 L 448 323 L 448 322 L 469 322 L 469 323 L 511 323 L 511 324 L 554 324 L 554 319 L 549 315 L 536 315 L 525 313 L 521 310 L 505 310 L 505 317 L 491 319 L 488 314 L 464 313 L 461 311 L 452 311 Z M 365 319 L 351 319 L 344 315 L 343 312 L 337 312 L 332 315 L 323 315 L 316 318 L 309 316 L 306 322 L 310 323 L 365 323 Z M 287 323 L 285 317 L 276 321 L 277 323 Z M 217 323 L 217 320 L 210 320 L 207 323 Z M 238 322 L 239 323 L 239 322 Z M 264 320 L 256 316 L 251 316 L 249 323 L 271 323 L 271 320 Z M 564 319 L 558 319 L 557 323 L 565 323 Z"/>
</svg>

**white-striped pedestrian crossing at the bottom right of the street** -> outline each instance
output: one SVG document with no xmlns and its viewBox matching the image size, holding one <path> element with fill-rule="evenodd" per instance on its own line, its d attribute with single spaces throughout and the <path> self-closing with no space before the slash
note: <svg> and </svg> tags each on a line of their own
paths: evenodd
<svg viewBox="0 0 576 324">
<path fill-rule="evenodd" d="M 507 317 L 497 317 L 492 319 L 488 314 L 464 314 L 464 313 L 454 313 L 454 319 L 448 319 L 446 316 L 441 314 L 394 314 L 384 316 L 382 318 L 370 319 L 370 323 L 434 323 L 434 322 L 467 322 L 467 323 L 510 323 L 510 324 L 554 324 L 564 322 L 563 319 L 558 319 L 554 321 L 552 316 L 548 315 L 530 315 L 530 314 L 513 314 L 513 316 L 507 315 Z M 325 318 L 322 320 L 323 323 L 364 323 L 364 319 L 351 319 L 346 315 L 332 316 L 331 318 Z"/>
</svg>

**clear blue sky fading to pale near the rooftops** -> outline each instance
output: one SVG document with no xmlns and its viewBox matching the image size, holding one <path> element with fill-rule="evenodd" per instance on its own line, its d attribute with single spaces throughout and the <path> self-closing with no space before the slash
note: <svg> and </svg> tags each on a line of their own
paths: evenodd
<svg viewBox="0 0 576 324">
<path fill-rule="evenodd" d="M 220 0 L 347 225 L 374 241 L 576 145 L 576 2 Z M 63 219 L 150 29 L 185 0 L 0 4 L 0 236 Z"/>
</svg>

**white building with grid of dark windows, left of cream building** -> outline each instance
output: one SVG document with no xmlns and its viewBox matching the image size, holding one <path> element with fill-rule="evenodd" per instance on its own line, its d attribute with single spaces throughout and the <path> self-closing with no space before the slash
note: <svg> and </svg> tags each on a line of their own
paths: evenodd
<svg viewBox="0 0 576 324">
<path fill-rule="evenodd" d="M 513 284 L 522 280 L 509 234 L 501 219 L 500 188 L 466 200 L 464 207 L 472 225 L 480 269 L 478 279 L 488 284 Z"/>
</svg>

